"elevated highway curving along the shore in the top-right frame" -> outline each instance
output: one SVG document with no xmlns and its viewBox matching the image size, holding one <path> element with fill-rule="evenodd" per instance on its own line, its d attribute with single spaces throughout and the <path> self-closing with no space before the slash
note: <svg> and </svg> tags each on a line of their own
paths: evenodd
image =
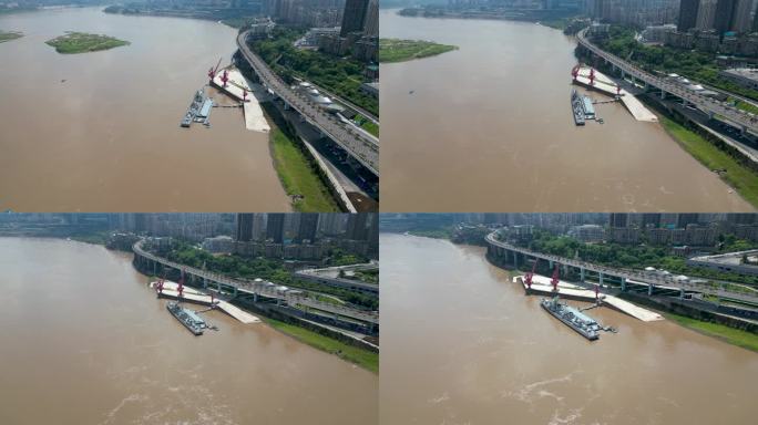
<svg viewBox="0 0 758 425">
<path fill-rule="evenodd" d="M 615 56 L 611 53 L 603 51 L 602 49 L 590 42 L 590 40 L 587 40 L 587 38 L 585 37 L 586 31 L 586 29 L 582 30 L 577 34 L 576 38 L 578 40 L 578 43 L 588 49 L 590 51 L 592 51 L 593 53 L 595 53 L 596 55 L 598 55 L 600 58 L 603 58 L 607 62 L 621 69 L 626 74 L 629 74 L 635 79 L 647 83 L 648 85 L 658 87 L 666 93 L 680 97 L 694 104 L 695 106 L 705 111 L 708 114 L 720 115 L 724 118 L 739 125 L 744 129 L 750 131 L 754 134 L 758 134 L 758 117 L 750 116 L 746 112 L 729 105 L 727 102 L 720 102 L 715 99 L 704 96 L 697 92 L 683 87 L 678 83 L 674 83 L 666 79 L 653 75 L 646 71 L 643 71 L 641 68 L 637 68 L 622 60 L 618 56 Z"/>
</svg>

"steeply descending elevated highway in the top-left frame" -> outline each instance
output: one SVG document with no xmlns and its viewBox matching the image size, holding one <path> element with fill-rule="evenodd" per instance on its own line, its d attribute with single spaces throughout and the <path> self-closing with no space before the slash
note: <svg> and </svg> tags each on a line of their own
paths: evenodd
<svg viewBox="0 0 758 425">
<path fill-rule="evenodd" d="M 248 32 L 237 35 L 237 46 L 263 84 L 295 108 L 309 123 L 335 141 L 371 173 L 379 176 L 379 139 L 341 123 L 306 95 L 293 90 L 246 43 Z"/>
</svg>

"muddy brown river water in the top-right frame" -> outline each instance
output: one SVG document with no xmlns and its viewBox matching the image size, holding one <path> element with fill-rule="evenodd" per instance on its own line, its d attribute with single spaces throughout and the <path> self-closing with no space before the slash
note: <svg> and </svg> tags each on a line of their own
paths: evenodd
<svg viewBox="0 0 758 425">
<path fill-rule="evenodd" d="M 576 43 L 562 32 L 380 13 L 382 38 L 460 48 L 381 65 L 382 210 L 752 209 L 659 124 L 619 104 L 597 105 L 604 125 L 576 127 Z"/>
</svg>

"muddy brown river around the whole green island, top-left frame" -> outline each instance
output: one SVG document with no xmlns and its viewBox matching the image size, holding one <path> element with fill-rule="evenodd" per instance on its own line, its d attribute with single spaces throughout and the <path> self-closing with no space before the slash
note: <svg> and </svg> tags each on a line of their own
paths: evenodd
<svg viewBox="0 0 758 425">
<path fill-rule="evenodd" d="M 0 208 L 34 211 L 286 211 L 268 135 L 242 110 L 212 128 L 178 124 L 236 31 L 216 22 L 98 8 L 0 15 L 25 37 L 0 43 Z M 63 55 L 64 31 L 131 42 Z"/>
</svg>

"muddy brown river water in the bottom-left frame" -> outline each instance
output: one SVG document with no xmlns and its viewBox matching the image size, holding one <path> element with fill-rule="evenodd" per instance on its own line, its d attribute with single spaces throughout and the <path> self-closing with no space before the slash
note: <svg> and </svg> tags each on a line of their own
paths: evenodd
<svg viewBox="0 0 758 425">
<path fill-rule="evenodd" d="M 377 423 L 377 375 L 221 312 L 194 336 L 131 259 L 0 238 L 1 424 Z"/>
</svg>

